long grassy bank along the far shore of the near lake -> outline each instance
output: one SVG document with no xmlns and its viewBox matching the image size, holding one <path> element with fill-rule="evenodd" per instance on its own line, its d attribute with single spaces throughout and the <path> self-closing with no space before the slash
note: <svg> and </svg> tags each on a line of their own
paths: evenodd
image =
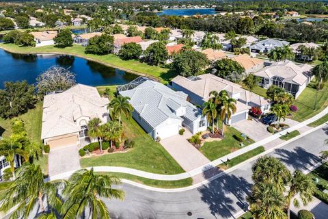
<svg viewBox="0 0 328 219">
<path fill-rule="evenodd" d="M 176 74 L 169 71 L 167 68 L 161 68 L 159 66 L 150 66 L 146 63 L 141 63 L 138 60 L 121 60 L 117 55 L 93 55 L 85 54 L 84 47 L 79 44 L 73 44 L 72 47 L 66 47 L 64 49 L 56 48 L 53 45 L 44 47 L 19 47 L 15 44 L 0 43 L 0 48 L 10 51 L 12 53 L 62 53 L 68 55 L 77 55 L 84 57 L 95 62 L 107 64 L 122 70 L 126 70 L 130 73 L 135 73 L 144 76 L 150 76 L 158 78 L 163 83 L 167 83 L 175 77 Z"/>
</svg>

